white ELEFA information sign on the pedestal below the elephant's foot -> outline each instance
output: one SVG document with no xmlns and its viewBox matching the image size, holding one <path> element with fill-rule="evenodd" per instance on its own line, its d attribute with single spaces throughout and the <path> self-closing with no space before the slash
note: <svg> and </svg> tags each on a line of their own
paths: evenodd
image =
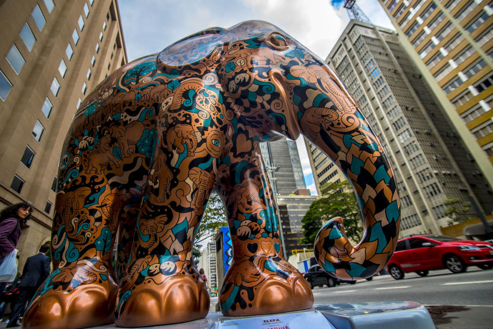
<svg viewBox="0 0 493 329">
<path fill-rule="evenodd" d="M 216 322 L 209 329 L 336 329 L 318 311 L 278 314 Z"/>
</svg>

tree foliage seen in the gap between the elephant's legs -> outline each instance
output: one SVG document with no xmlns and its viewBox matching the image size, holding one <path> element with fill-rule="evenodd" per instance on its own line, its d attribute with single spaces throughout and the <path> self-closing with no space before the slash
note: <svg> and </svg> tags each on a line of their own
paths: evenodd
<svg viewBox="0 0 493 329">
<path fill-rule="evenodd" d="M 200 227 L 195 235 L 192 255 L 196 260 L 196 263 L 198 263 L 198 259 L 202 255 L 202 251 L 198 243 L 212 237 L 216 228 L 221 226 L 227 226 L 226 211 L 221 198 L 216 192 L 212 192 L 211 197 L 207 201 L 207 206 L 205 207 L 204 215 L 202 216 L 202 221 L 200 222 Z"/>
</svg>

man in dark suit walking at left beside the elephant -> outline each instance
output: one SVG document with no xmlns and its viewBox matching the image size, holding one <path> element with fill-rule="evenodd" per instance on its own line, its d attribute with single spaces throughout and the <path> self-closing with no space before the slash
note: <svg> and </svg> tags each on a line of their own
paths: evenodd
<svg viewBox="0 0 493 329">
<path fill-rule="evenodd" d="M 7 327 L 19 325 L 17 324 L 17 320 L 24 314 L 26 303 L 31 301 L 37 288 L 50 274 L 50 259 L 45 255 L 49 248 L 47 244 L 42 245 L 39 254 L 31 256 L 26 260 L 22 271 L 23 278 L 21 283 L 19 283 L 20 293 L 12 307 L 12 313 L 10 314 Z"/>
</svg>

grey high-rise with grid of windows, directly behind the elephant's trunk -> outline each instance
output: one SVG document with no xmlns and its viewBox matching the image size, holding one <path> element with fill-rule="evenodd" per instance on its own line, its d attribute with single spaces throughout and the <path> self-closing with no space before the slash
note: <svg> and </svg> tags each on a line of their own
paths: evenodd
<svg viewBox="0 0 493 329">
<path fill-rule="evenodd" d="M 472 197 L 483 211 L 493 210 L 491 187 L 476 174 L 476 163 L 394 31 L 351 20 L 326 61 L 390 158 L 401 196 L 401 236 L 440 234 L 450 220 L 443 214 L 450 197 Z M 312 159 L 312 166 L 314 176 L 337 168 L 325 156 Z"/>
</svg>

